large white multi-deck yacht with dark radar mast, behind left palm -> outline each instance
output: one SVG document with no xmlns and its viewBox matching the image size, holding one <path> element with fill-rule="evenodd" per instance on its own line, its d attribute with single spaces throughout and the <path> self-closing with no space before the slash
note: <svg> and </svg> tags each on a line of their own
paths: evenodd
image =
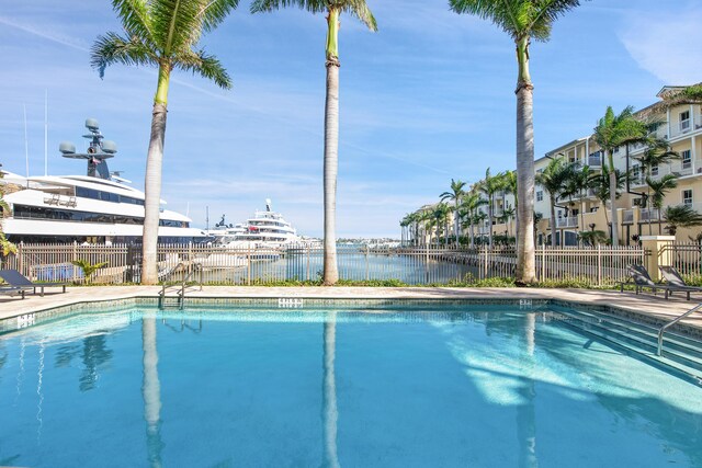
<svg viewBox="0 0 702 468">
<path fill-rule="evenodd" d="M 144 192 L 107 169 L 116 145 L 104 140 L 98 122 L 86 121 L 89 147 L 86 153 L 61 142 L 65 158 L 88 162 L 87 175 L 44 175 L 22 178 L 3 172 L 3 229 L 12 242 L 140 242 L 144 230 Z M 161 201 L 165 205 L 166 202 Z M 160 212 L 158 237 L 162 243 L 201 241 L 205 233 L 190 227 L 191 219 L 180 213 Z"/>
</svg>

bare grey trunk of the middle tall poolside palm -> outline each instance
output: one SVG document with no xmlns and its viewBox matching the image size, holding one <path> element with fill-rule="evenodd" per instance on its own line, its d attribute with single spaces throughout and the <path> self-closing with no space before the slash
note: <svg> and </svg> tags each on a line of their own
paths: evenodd
<svg viewBox="0 0 702 468">
<path fill-rule="evenodd" d="M 339 170 L 339 11 L 327 18 L 327 100 L 325 106 L 325 265 L 324 284 L 339 281 L 337 265 L 337 175 Z"/>
</svg>

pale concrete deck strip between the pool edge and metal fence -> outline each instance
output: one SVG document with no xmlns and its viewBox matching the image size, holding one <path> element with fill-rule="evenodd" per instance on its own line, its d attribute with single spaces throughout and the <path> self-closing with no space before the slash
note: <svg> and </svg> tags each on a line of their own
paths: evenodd
<svg viewBox="0 0 702 468">
<path fill-rule="evenodd" d="M 56 288 L 55 290 L 59 290 Z M 68 287 L 67 293 L 47 289 L 44 297 L 27 294 L 0 296 L 0 320 L 37 312 L 59 306 L 84 301 L 116 300 L 133 297 L 157 297 L 160 286 L 91 286 Z M 169 296 L 173 296 L 171 289 Z M 542 288 L 451 288 L 451 287 L 264 287 L 264 286 L 204 286 L 203 290 L 189 288 L 186 297 L 213 298 L 318 298 L 318 299 L 556 299 L 595 306 L 613 306 L 627 311 L 659 319 L 672 319 L 702 301 L 702 294 L 692 300 L 650 293 L 600 289 L 542 289 Z M 702 329 L 702 313 L 693 313 L 684 323 Z"/>
</svg>

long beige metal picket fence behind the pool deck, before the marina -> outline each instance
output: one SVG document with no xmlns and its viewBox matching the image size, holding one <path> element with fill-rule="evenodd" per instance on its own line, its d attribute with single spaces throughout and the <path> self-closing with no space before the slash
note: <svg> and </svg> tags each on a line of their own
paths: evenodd
<svg viewBox="0 0 702 468">
<path fill-rule="evenodd" d="M 698 248 L 697 267 L 700 265 Z M 517 253 L 512 248 L 370 248 L 339 244 L 339 276 L 342 281 L 388 281 L 405 284 L 471 283 L 491 277 L 513 277 Z M 89 281 L 138 283 L 139 246 L 20 244 L 18 253 L 4 259 L 4 267 L 16 269 L 35 281 L 86 282 L 73 261 L 106 262 Z M 199 264 L 206 284 L 274 284 L 286 281 L 318 281 L 324 264 L 321 247 L 222 248 L 202 244 L 161 244 L 157 263 L 160 281 L 179 281 Z M 577 279 L 602 285 L 624 281 L 626 266 L 644 261 L 641 248 L 536 249 L 540 281 Z"/>
</svg>

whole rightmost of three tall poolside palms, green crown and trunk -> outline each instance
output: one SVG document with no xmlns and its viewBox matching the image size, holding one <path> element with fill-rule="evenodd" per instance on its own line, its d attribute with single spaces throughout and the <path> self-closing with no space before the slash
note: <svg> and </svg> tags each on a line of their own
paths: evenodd
<svg viewBox="0 0 702 468">
<path fill-rule="evenodd" d="M 518 219 L 517 284 L 536 281 L 534 252 L 534 125 L 533 90 L 529 75 L 531 38 L 548 41 L 555 20 L 580 4 L 579 0 L 449 0 L 456 13 L 469 13 L 492 21 L 511 36 L 517 46 L 517 175 Z"/>
</svg>

